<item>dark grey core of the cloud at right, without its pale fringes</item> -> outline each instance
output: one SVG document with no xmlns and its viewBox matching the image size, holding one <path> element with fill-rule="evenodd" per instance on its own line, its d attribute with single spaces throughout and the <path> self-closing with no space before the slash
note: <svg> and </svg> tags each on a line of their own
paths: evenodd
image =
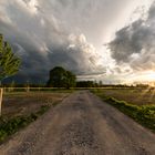
<svg viewBox="0 0 155 155">
<path fill-rule="evenodd" d="M 152 34 L 152 31 L 143 24 L 144 21 L 138 20 L 116 32 L 115 39 L 108 46 L 112 51 L 112 56 L 117 62 L 128 62 L 133 53 L 142 51 Z"/>
</svg>

